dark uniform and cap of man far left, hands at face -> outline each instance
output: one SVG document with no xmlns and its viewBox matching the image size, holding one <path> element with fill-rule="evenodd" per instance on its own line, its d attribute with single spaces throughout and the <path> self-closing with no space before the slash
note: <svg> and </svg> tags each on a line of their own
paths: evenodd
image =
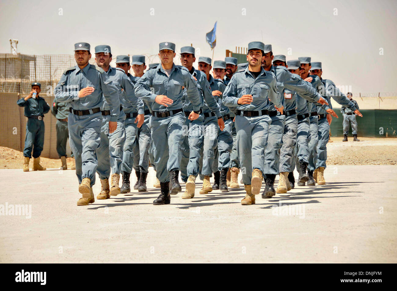
<svg viewBox="0 0 397 291">
<path fill-rule="evenodd" d="M 39 86 L 40 83 L 32 83 L 33 86 Z M 25 98 L 25 97 L 24 97 Z M 39 94 L 36 98 L 29 98 L 25 101 L 21 98 L 17 101 L 17 104 L 21 107 L 25 107 L 25 116 L 28 118 L 26 123 L 26 135 L 25 135 L 25 146 L 23 148 L 23 156 L 29 158 L 38 158 L 43 150 L 44 145 L 44 114 L 50 111 L 50 106 L 44 98 L 40 97 Z"/>
</svg>

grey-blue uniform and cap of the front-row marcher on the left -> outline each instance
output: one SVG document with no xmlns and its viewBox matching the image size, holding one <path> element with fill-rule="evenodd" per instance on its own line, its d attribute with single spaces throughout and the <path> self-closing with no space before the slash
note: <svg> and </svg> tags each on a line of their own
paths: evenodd
<svg viewBox="0 0 397 291">
<path fill-rule="evenodd" d="M 75 44 L 75 50 L 90 50 L 86 42 Z M 85 87 L 94 87 L 94 92 L 79 98 L 79 91 Z M 70 67 L 64 71 L 55 89 L 57 102 L 70 102 L 68 129 L 69 143 L 76 160 L 76 175 L 79 183 L 83 178 L 91 179 L 95 184 L 95 172 L 98 166 L 96 149 L 100 143 L 102 113 L 106 101 L 110 107 L 110 121 L 117 121 L 120 112 L 118 89 L 103 69 L 87 63 L 82 69 Z"/>
</svg>

